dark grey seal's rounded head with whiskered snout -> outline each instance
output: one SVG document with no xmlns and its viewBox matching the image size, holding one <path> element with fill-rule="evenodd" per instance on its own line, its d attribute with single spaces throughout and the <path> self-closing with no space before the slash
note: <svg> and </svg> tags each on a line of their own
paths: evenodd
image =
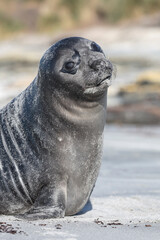
<svg viewBox="0 0 160 240">
<path fill-rule="evenodd" d="M 39 74 L 48 80 L 49 86 L 64 88 L 74 97 L 94 99 L 106 92 L 112 70 L 98 44 L 72 37 L 48 49 L 41 59 Z"/>
</svg>

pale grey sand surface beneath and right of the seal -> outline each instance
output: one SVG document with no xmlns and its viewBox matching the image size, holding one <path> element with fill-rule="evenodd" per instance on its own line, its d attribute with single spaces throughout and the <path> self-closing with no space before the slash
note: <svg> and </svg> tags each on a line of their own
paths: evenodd
<svg viewBox="0 0 160 240">
<path fill-rule="evenodd" d="M 107 126 L 92 210 L 39 221 L 1 216 L 0 226 L 12 224 L 17 233 L 0 233 L 0 239 L 159 240 L 159 139 L 160 127 Z"/>
</svg>

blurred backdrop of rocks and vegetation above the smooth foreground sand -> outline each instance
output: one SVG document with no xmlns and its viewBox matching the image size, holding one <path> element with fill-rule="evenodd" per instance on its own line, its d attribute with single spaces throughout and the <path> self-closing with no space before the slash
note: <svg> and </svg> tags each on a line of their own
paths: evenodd
<svg viewBox="0 0 160 240">
<path fill-rule="evenodd" d="M 96 41 L 117 68 L 108 123 L 160 124 L 159 0 L 0 0 L 0 107 L 67 36 Z"/>
</svg>

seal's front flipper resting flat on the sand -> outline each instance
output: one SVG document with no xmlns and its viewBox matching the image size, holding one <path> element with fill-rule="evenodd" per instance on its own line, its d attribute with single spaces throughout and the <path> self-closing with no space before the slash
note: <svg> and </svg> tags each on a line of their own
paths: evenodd
<svg viewBox="0 0 160 240">
<path fill-rule="evenodd" d="M 44 186 L 31 209 L 17 217 L 29 220 L 63 218 L 65 216 L 67 189 L 65 185 Z"/>
</svg>

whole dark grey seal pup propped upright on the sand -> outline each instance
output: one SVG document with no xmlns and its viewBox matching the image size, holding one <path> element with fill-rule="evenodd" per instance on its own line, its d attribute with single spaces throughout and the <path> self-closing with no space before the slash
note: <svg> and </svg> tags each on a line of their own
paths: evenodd
<svg viewBox="0 0 160 240">
<path fill-rule="evenodd" d="M 112 65 L 84 38 L 63 39 L 0 111 L 0 214 L 78 213 L 95 185 Z"/>
</svg>

